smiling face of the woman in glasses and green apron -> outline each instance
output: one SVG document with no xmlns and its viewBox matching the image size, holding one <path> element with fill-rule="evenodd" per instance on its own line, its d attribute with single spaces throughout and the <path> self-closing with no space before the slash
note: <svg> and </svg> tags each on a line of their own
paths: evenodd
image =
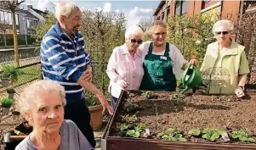
<svg viewBox="0 0 256 150">
<path fill-rule="evenodd" d="M 156 25 L 152 27 L 151 38 L 154 44 L 158 47 L 162 46 L 166 42 L 167 31 L 166 28 Z"/>
</svg>

